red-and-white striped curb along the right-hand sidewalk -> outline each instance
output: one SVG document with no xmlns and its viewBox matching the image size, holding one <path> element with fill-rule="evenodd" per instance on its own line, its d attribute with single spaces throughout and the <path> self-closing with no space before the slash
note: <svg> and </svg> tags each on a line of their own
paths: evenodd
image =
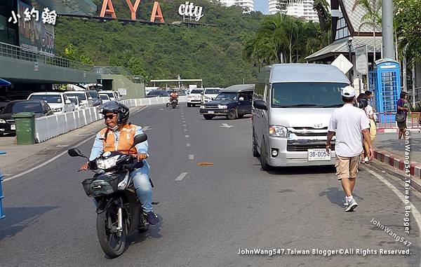
<svg viewBox="0 0 421 267">
<path fill-rule="evenodd" d="M 409 165 L 410 175 L 421 178 L 421 163 L 415 161 L 408 162 L 408 160 L 400 158 L 400 156 L 392 152 L 380 149 L 374 151 L 374 158 L 403 172 L 407 172 Z"/>
</svg>

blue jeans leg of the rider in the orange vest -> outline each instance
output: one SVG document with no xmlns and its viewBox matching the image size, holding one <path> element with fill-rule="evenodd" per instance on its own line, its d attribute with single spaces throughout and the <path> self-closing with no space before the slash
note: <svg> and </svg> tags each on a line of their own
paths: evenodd
<svg viewBox="0 0 421 267">
<path fill-rule="evenodd" d="M 144 212 L 152 212 L 152 186 L 149 182 L 149 163 L 143 160 L 143 167 L 133 170 L 130 177 L 138 193 Z"/>
</svg>

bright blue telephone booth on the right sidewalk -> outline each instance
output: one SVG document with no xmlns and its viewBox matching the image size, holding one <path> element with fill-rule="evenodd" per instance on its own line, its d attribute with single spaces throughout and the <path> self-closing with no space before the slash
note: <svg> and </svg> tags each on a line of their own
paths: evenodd
<svg viewBox="0 0 421 267">
<path fill-rule="evenodd" d="M 401 68 L 396 60 L 382 59 L 369 73 L 370 90 L 375 95 L 376 111 L 380 123 L 394 122 L 396 102 L 401 94 Z"/>
</svg>

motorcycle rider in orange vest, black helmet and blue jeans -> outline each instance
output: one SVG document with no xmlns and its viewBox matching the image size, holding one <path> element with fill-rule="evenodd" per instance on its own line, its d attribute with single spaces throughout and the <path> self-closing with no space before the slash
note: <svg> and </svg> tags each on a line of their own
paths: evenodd
<svg viewBox="0 0 421 267">
<path fill-rule="evenodd" d="M 109 101 L 102 104 L 100 113 L 104 115 L 104 123 L 107 127 L 100 130 L 96 135 L 89 160 L 95 160 L 105 151 L 130 153 L 138 161 L 142 160 L 143 166 L 133 170 L 130 175 L 142 203 L 145 218 L 149 221 L 149 224 L 158 224 L 159 219 L 152 211 L 152 186 L 149 182 L 149 164 L 146 161 L 148 142 L 136 144 L 135 147 L 130 149 L 134 137 L 143 133 L 142 127 L 127 123 L 130 111 L 128 107 L 119 102 Z M 88 163 L 83 164 L 81 170 L 88 170 Z"/>
</svg>

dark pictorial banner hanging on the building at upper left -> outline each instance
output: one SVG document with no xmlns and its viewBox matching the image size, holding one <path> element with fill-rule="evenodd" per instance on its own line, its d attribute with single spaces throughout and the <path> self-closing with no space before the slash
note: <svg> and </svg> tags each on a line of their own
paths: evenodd
<svg viewBox="0 0 421 267">
<path fill-rule="evenodd" d="M 18 13 L 25 18 L 25 10 L 32 10 L 32 6 L 18 1 Z M 39 15 L 41 17 L 41 15 Z M 19 43 L 26 50 L 54 55 L 54 27 L 43 23 L 41 18 L 31 18 L 29 21 L 19 20 Z"/>
</svg>

